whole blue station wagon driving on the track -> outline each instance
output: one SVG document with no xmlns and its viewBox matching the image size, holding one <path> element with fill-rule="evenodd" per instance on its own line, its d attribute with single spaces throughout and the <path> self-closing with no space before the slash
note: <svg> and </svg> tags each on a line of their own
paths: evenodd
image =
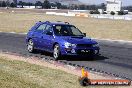
<svg viewBox="0 0 132 88">
<path fill-rule="evenodd" d="M 68 22 L 37 22 L 27 33 L 27 49 L 30 53 L 43 50 L 53 53 L 55 60 L 64 55 L 98 55 L 99 44 L 86 37 Z"/>
</svg>

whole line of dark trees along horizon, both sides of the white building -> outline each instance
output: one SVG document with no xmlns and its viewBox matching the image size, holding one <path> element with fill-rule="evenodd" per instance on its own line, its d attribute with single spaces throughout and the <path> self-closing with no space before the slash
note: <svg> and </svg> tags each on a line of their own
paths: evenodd
<svg viewBox="0 0 132 88">
<path fill-rule="evenodd" d="M 0 1 L 0 7 L 17 7 L 17 5 L 21 6 L 23 8 L 24 6 L 41 6 L 42 9 L 50 9 L 52 7 L 57 7 L 58 9 L 72 9 L 72 10 L 98 10 L 98 9 L 104 9 L 106 10 L 106 4 L 101 3 L 99 5 L 76 5 L 76 4 L 69 4 L 69 5 L 63 5 L 59 2 L 50 3 L 48 0 L 36 1 L 36 3 L 31 2 L 23 2 L 17 0 L 13 0 L 13 2 L 7 1 Z M 132 6 L 125 6 L 122 7 L 122 9 L 126 9 L 129 11 L 132 11 Z"/>
</svg>

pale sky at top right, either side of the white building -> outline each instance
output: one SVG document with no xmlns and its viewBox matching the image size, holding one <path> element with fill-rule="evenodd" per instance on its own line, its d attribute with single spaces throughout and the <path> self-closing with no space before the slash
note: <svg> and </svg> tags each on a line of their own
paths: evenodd
<svg viewBox="0 0 132 88">
<path fill-rule="evenodd" d="M 100 4 L 100 3 L 105 3 L 105 0 L 79 0 L 85 3 L 90 3 L 90 4 Z M 132 0 L 121 0 L 123 6 L 127 5 L 132 5 Z"/>
</svg>

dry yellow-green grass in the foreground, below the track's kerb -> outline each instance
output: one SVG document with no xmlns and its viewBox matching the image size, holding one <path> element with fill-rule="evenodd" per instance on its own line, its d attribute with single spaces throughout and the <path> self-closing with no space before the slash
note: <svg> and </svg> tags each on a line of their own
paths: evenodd
<svg viewBox="0 0 132 88">
<path fill-rule="evenodd" d="M 83 88 L 78 77 L 61 70 L 0 56 L 0 88 Z M 106 88 L 89 86 L 87 88 Z M 107 88 L 113 88 L 108 87 Z M 115 87 L 117 88 L 117 86 Z"/>
</svg>

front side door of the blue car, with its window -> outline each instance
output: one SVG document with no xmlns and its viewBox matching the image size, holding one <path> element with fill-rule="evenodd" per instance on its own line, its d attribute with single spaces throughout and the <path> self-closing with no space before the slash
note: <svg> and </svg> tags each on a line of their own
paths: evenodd
<svg viewBox="0 0 132 88">
<path fill-rule="evenodd" d="M 51 51 L 53 50 L 53 43 L 54 43 L 54 37 L 53 37 L 53 28 L 51 25 L 47 25 L 45 28 L 45 31 L 43 33 L 43 44 L 45 47 L 45 49 L 47 51 Z"/>
</svg>

